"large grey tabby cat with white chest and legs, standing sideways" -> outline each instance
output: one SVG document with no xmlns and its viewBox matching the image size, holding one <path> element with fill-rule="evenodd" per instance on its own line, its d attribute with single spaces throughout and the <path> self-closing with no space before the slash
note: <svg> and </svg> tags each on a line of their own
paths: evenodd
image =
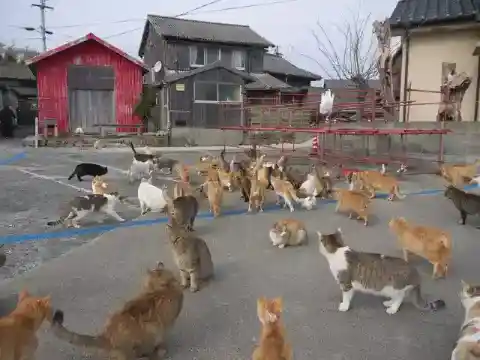
<svg viewBox="0 0 480 360">
<path fill-rule="evenodd" d="M 390 315 L 398 311 L 412 291 L 413 304 L 420 310 L 436 311 L 445 307 L 443 300 L 423 300 L 420 274 L 405 260 L 352 250 L 344 244 L 340 228 L 333 234 L 317 234 L 320 253 L 327 259 L 342 290 L 339 311 L 348 311 L 355 291 L 387 297 L 383 305 Z"/>
</svg>

